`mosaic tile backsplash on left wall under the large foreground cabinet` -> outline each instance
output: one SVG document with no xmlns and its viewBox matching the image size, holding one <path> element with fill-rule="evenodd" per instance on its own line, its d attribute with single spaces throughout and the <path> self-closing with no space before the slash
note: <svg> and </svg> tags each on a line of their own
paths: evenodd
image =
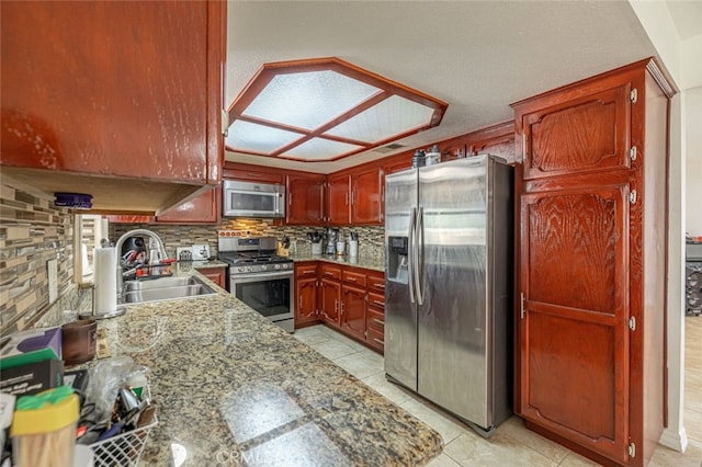
<svg viewBox="0 0 702 467">
<path fill-rule="evenodd" d="M 54 324 L 49 316 L 79 300 L 72 280 L 72 213 L 4 179 L 0 223 L 0 335 Z M 58 299 L 49 304 L 46 263 L 53 259 L 58 262 Z"/>
</svg>

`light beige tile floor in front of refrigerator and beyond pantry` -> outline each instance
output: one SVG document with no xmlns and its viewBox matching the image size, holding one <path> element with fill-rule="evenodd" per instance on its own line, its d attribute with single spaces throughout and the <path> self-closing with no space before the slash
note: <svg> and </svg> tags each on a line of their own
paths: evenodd
<svg viewBox="0 0 702 467">
<path fill-rule="evenodd" d="M 330 328 L 314 326 L 298 329 L 294 335 L 437 430 L 443 437 L 444 451 L 429 467 L 597 465 L 526 430 L 518 417 L 500 425 L 488 440 L 479 436 L 464 423 L 388 383 L 381 355 Z M 684 426 L 689 445 L 684 454 L 659 446 L 650 466 L 702 467 L 702 317 L 686 319 L 686 335 Z"/>
</svg>

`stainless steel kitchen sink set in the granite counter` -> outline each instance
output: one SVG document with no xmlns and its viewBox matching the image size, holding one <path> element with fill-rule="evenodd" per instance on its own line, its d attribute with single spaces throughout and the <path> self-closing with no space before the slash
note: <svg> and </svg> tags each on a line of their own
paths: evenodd
<svg viewBox="0 0 702 467">
<path fill-rule="evenodd" d="M 148 281 L 127 281 L 124 283 L 123 304 L 174 300 L 178 298 L 197 298 L 216 294 L 215 289 L 200 277 L 192 275 L 159 277 Z"/>
</svg>

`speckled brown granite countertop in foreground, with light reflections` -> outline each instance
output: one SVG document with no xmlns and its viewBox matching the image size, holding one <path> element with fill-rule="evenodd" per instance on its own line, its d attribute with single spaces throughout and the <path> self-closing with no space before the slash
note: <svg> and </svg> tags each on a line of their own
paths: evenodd
<svg viewBox="0 0 702 467">
<path fill-rule="evenodd" d="M 100 321 L 149 367 L 159 423 L 141 465 L 424 465 L 441 436 L 219 289 Z"/>
</svg>

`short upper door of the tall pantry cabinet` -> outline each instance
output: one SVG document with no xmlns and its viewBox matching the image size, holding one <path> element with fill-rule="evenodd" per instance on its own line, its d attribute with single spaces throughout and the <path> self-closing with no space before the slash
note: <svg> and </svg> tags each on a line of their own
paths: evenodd
<svg viewBox="0 0 702 467">
<path fill-rule="evenodd" d="M 631 84 L 521 116 L 524 179 L 630 168 Z"/>
</svg>

